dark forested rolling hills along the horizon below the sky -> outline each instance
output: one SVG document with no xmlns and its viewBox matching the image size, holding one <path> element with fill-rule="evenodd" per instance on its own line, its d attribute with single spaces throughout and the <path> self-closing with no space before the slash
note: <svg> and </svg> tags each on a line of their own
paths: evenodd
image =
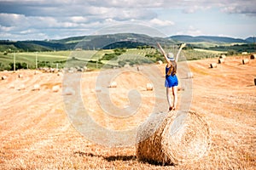
<svg viewBox="0 0 256 170">
<path fill-rule="evenodd" d="M 184 36 L 177 35 L 172 37 L 150 37 L 144 34 L 119 33 L 108 35 L 94 35 L 82 37 L 67 37 L 58 40 L 42 41 L 11 41 L 0 40 L 0 51 L 53 51 L 81 49 L 102 49 L 102 48 L 135 48 L 137 46 L 155 46 L 156 42 L 166 45 L 177 44 L 180 42 L 196 43 L 198 47 L 205 48 L 222 44 L 234 43 L 253 43 L 253 37 L 247 39 L 233 37 L 208 37 L 208 36 Z M 204 45 L 199 45 L 204 44 Z"/>
</svg>

